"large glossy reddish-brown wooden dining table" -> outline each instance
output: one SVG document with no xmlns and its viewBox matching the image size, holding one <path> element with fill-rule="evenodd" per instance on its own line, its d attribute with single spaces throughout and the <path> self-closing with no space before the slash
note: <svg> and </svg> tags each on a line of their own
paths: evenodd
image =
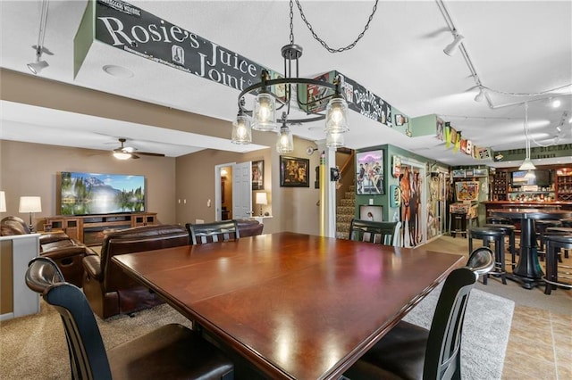
<svg viewBox="0 0 572 380">
<path fill-rule="evenodd" d="M 113 258 L 258 375 L 290 379 L 339 378 L 465 261 L 290 232 Z"/>
</svg>

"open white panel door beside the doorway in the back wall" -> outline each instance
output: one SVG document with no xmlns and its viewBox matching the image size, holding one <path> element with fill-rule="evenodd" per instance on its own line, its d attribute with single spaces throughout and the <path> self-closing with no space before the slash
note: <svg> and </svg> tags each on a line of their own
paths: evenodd
<svg viewBox="0 0 572 380">
<path fill-rule="evenodd" d="M 252 216 L 252 162 L 232 165 L 232 219 Z"/>
</svg>

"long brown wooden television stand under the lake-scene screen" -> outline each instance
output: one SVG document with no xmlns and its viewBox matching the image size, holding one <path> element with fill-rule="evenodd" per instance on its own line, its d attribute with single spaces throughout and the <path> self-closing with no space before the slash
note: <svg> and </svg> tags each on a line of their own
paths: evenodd
<svg viewBox="0 0 572 380">
<path fill-rule="evenodd" d="M 53 229 L 63 230 L 86 245 L 103 242 L 107 229 L 122 229 L 156 224 L 156 212 L 126 212 L 100 215 L 56 215 L 46 218 Z"/>
</svg>

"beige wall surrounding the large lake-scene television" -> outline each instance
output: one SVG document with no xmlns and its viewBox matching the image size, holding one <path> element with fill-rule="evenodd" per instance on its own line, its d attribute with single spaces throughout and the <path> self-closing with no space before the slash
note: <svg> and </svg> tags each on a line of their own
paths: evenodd
<svg viewBox="0 0 572 380">
<path fill-rule="evenodd" d="M 143 156 L 139 160 L 119 161 L 111 153 L 65 146 L 39 145 L 0 140 L 0 189 L 6 194 L 6 213 L 28 221 L 18 212 L 21 195 L 42 197 L 43 217 L 57 215 L 56 174 L 60 171 L 137 174 L 146 177 L 147 211 L 156 212 L 160 223 L 175 222 L 175 159 Z"/>
</svg>

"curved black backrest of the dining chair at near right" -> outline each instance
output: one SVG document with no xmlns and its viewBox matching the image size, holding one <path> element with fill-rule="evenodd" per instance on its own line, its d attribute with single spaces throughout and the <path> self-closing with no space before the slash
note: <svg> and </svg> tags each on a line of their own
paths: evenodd
<svg viewBox="0 0 572 380">
<path fill-rule="evenodd" d="M 455 269 L 445 280 L 427 339 L 424 379 L 461 378 L 461 333 L 475 282 L 475 273 L 469 268 Z"/>
</svg>

